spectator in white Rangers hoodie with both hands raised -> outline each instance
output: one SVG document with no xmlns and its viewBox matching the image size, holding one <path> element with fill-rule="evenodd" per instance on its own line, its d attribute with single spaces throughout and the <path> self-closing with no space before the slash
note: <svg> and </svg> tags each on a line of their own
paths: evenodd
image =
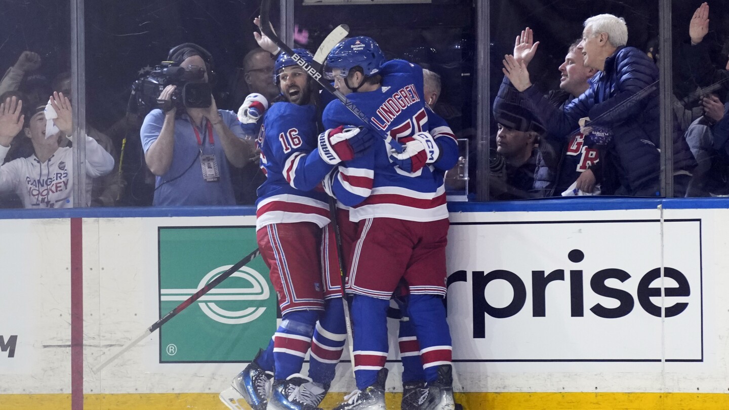
<svg viewBox="0 0 729 410">
<path fill-rule="evenodd" d="M 34 155 L 0 166 L 0 192 L 17 193 L 26 208 L 69 208 L 74 205 L 73 153 L 69 147 L 58 146 L 60 137 L 71 138 L 71 101 L 63 94 L 54 93 L 50 103 L 58 115 L 52 123 L 60 131 L 48 137 L 46 104 L 29 109 L 26 115 L 21 115 L 23 102 L 15 97 L 0 104 L 0 160 L 4 160 L 12 139 L 21 128 L 33 143 Z M 108 174 L 113 168 L 114 158 L 93 138 L 86 136 L 87 198 L 90 198 L 93 178 Z"/>
</svg>

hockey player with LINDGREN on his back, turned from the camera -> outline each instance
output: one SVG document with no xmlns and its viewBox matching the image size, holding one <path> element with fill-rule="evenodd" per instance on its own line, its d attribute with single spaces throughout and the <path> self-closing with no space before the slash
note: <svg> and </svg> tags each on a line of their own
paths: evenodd
<svg viewBox="0 0 729 410">
<path fill-rule="evenodd" d="M 389 144 L 375 142 L 365 155 L 340 164 L 324 182 L 338 201 L 353 206 L 350 218 L 359 229 L 347 284 L 354 294 L 358 390 L 337 409 L 385 409 L 386 312 L 400 279 L 408 282 L 408 316 L 429 387 L 421 408 L 453 409 L 451 337 L 442 299 L 448 233 L 443 175 L 456 163 L 456 139 L 445 123 L 429 123 L 439 119 L 421 98 L 422 69 L 402 60 L 385 63 L 373 39 L 341 42 L 327 57 L 325 71 L 335 88 L 405 145 L 397 153 Z M 354 121 L 356 116 L 340 101 L 324 110 L 327 127 Z"/>
</svg>

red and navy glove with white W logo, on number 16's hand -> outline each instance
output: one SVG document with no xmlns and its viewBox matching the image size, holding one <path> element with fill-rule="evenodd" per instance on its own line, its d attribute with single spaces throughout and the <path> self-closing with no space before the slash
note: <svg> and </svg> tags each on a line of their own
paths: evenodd
<svg viewBox="0 0 729 410">
<path fill-rule="evenodd" d="M 324 162 L 336 165 L 351 160 L 373 143 L 373 136 L 366 128 L 340 125 L 319 134 L 319 155 Z"/>
</svg>

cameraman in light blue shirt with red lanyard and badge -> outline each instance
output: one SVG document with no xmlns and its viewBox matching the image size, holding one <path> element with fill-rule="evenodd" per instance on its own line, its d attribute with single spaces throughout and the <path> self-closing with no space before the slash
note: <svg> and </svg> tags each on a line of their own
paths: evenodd
<svg viewBox="0 0 729 410">
<path fill-rule="evenodd" d="M 202 47 L 174 47 L 168 60 L 190 77 L 202 74 L 190 82 L 208 82 L 212 58 Z M 140 131 L 144 159 L 157 176 L 152 204 L 235 205 L 228 162 L 243 166 L 253 155 L 254 143 L 243 139 L 236 115 L 217 109 L 214 98 L 206 108 L 182 106 L 177 89 L 165 87 L 158 98 L 162 108 L 149 112 Z"/>
</svg>

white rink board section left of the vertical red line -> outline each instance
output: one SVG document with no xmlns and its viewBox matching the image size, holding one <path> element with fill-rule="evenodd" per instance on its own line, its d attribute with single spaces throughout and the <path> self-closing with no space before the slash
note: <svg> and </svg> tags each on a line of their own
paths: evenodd
<svg viewBox="0 0 729 410">
<path fill-rule="evenodd" d="M 69 220 L 0 220 L 0 394 L 70 391 L 70 239 Z"/>
</svg>

